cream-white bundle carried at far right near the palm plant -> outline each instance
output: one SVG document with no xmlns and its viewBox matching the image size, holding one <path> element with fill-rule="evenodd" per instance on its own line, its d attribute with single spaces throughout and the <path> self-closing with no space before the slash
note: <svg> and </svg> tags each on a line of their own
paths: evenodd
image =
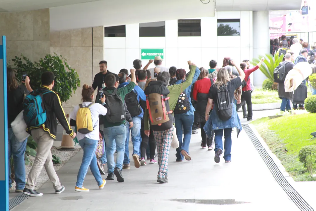
<svg viewBox="0 0 316 211">
<path fill-rule="evenodd" d="M 312 74 L 312 68 L 308 62 L 300 62 L 293 67 L 286 75 L 284 80 L 284 89 L 286 92 L 292 92 L 305 80 L 310 74 Z"/>
</svg>

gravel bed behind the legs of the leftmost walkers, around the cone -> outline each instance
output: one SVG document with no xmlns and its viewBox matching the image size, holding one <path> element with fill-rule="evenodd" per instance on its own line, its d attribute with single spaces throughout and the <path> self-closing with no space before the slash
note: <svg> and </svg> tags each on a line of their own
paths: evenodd
<svg viewBox="0 0 316 211">
<path fill-rule="evenodd" d="M 52 147 L 52 155 L 56 155 L 57 157 L 60 158 L 61 164 L 57 164 L 54 165 L 54 169 L 55 171 L 58 171 L 61 167 L 64 166 L 64 164 L 66 164 L 68 162 L 68 160 L 70 160 L 70 158 L 72 158 L 77 152 L 79 152 L 80 150 L 80 146 L 76 145 L 75 146 L 75 150 L 72 151 L 63 151 L 63 150 L 58 150 L 58 147 L 53 146 Z M 28 176 L 28 173 L 31 171 L 32 169 L 32 165 L 34 162 L 34 157 L 29 156 L 29 160 L 30 160 L 30 164 L 25 166 L 25 171 L 26 171 L 26 178 Z M 39 189 L 47 180 L 48 180 L 48 175 L 45 171 L 45 167 L 43 166 L 43 169 L 40 173 L 40 176 L 38 177 L 37 181 L 36 181 L 36 186 L 35 186 L 35 190 Z M 12 188 L 14 190 L 15 188 L 15 182 L 12 182 Z"/>
</svg>

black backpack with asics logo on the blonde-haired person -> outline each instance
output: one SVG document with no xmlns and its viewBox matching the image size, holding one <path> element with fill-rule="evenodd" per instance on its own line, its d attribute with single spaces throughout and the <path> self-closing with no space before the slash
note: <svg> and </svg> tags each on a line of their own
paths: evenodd
<svg viewBox="0 0 316 211">
<path fill-rule="evenodd" d="M 222 121 L 229 120 L 233 115 L 233 105 L 230 103 L 227 87 L 217 89 L 217 115 Z"/>
</svg>

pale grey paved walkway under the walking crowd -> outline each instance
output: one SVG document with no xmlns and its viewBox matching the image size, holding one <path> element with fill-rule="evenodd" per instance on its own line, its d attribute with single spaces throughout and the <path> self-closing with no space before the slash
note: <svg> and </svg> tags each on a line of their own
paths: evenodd
<svg viewBox="0 0 316 211">
<path fill-rule="evenodd" d="M 239 139 L 232 134 L 232 162 L 222 159 L 219 164 L 214 162 L 214 151 L 201 149 L 198 132 L 191 137 L 190 162 L 176 163 L 175 149 L 171 149 L 167 184 L 156 182 L 158 164 L 139 169 L 131 165 L 130 170 L 123 170 L 124 183 L 107 181 L 103 190 L 88 171 L 84 187 L 90 192 L 75 192 L 80 151 L 58 171 L 66 187 L 61 195 L 54 194 L 48 181 L 39 189 L 42 197 L 29 197 L 13 210 L 299 210 L 273 179 L 244 131 Z"/>
</svg>

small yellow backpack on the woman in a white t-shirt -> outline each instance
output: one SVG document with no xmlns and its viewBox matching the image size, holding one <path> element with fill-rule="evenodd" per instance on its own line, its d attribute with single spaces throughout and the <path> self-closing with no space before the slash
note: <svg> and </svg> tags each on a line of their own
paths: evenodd
<svg viewBox="0 0 316 211">
<path fill-rule="evenodd" d="M 76 117 L 77 131 L 82 134 L 90 133 L 93 131 L 92 116 L 89 107 L 93 105 L 90 103 L 87 107 L 79 104 L 79 110 Z"/>
</svg>

